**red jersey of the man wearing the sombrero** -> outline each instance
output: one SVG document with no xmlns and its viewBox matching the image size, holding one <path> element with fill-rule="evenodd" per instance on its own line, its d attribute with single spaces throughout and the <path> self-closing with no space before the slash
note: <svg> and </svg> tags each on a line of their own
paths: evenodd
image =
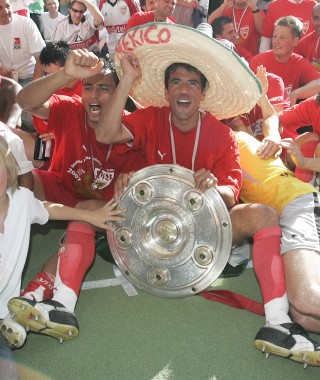
<svg viewBox="0 0 320 380">
<path fill-rule="evenodd" d="M 123 117 L 123 125 L 133 135 L 133 149 L 140 149 L 147 165 L 176 163 L 194 171 L 205 168 L 217 178 L 220 186 L 229 186 L 237 200 L 242 183 L 238 144 L 232 130 L 206 113 L 202 117 L 199 142 L 196 130 L 178 130 L 172 123 L 176 162 L 172 154 L 169 107 L 148 107 Z"/>
</svg>

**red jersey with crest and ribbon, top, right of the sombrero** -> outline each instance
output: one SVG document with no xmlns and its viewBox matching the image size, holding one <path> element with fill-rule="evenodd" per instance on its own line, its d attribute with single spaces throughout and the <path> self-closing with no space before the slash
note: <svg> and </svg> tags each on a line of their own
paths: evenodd
<svg viewBox="0 0 320 380">
<path fill-rule="evenodd" d="M 264 17 L 264 13 L 260 10 Z M 224 16 L 232 18 L 233 25 L 236 29 L 238 39 L 236 45 L 246 48 L 252 55 L 259 53 L 260 33 L 256 30 L 254 24 L 254 15 L 251 9 L 234 9 L 231 5 L 223 12 Z"/>
</svg>

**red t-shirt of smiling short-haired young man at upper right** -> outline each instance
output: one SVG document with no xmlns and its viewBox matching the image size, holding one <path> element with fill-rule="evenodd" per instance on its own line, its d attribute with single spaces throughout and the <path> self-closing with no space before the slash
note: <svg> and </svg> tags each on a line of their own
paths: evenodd
<svg viewBox="0 0 320 380">
<path fill-rule="evenodd" d="M 294 53 L 288 62 L 280 63 L 276 61 L 272 50 L 266 51 L 252 57 L 250 61 L 250 67 L 255 73 L 259 65 L 263 65 L 269 73 L 282 78 L 288 94 L 292 90 L 320 78 L 317 69 L 306 58 Z"/>
</svg>

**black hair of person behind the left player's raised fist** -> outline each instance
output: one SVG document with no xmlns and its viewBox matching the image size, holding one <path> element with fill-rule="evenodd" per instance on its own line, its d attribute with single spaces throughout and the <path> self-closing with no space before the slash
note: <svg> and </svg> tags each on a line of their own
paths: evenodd
<svg viewBox="0 0 320 380">
<path fill-rule="evenodd" d="M 65 41 L 47 41 L 40 53 L 40 64 L 43 66 L 56 64 L 63 67 L 70 51 L 70 47 Z"/>
</svg>

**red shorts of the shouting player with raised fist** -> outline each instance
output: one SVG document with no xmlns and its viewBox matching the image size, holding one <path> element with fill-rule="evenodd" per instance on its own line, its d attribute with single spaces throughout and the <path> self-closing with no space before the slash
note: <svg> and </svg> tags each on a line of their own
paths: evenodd
<svg viewBox="0 0 320 380">
<path fill-rule="evenodd" d="M 46 170 L 33 170 L 42 183 L 46 201 L 62 203 L 65 206 L 74 207 L 77 203 L 85 200 L 71 194 L 70 190 L 66 188 L 54 174 Z"/>
</svg>

